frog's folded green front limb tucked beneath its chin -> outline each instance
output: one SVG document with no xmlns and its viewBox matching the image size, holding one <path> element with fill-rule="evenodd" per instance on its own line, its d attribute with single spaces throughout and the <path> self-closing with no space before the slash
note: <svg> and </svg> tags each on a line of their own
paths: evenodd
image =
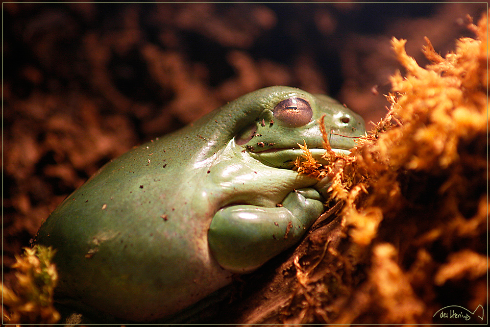
<svg viewBox="0 0 490 327">
<path fill-rule="evenodd" d="M 249 273 L 295 244 L 323 211 L 312 188 L 289 193 L 279 207 L 232 205 L 219 210 L 208 231 L 214 258 L 226 270 Z"/>
</svg>

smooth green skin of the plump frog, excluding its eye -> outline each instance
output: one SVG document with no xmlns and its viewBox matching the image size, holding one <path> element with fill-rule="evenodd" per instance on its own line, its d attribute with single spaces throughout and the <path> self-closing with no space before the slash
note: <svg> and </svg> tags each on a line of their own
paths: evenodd
<svg viewBox="0 0 490 327">
<path fill-rule="evenodd" d="M 272 116 L 277 103 L 293 96 L 312 107 L 305 126 L 286 127 Z M 365 133 L 362 118 L 338 102 L 276 86 L 107 163 L 36 235 L 35 243 L 57 251 L 58 297 L 114 317 L 154 321 L 296 243 L 323 210 L 312 188 L 318 180 L 283 169 L 300 150 L 259 151 L 298 149 L 303 140 L 321 149 L 317 120 L 323 114 L 327 130 Z M 346 115 L 349 124 L 340 121 Z M 235 143 L 235 136 L 246 138 L 254 128 L 257 136 Z M 330 142 L 339 149 L 355 145 L 352 138 L 334 135 Z M 245 148 L 250 145 L 254 151 Z M 312 150 L 317 156 L 324 152 Z"/>
</svg>

